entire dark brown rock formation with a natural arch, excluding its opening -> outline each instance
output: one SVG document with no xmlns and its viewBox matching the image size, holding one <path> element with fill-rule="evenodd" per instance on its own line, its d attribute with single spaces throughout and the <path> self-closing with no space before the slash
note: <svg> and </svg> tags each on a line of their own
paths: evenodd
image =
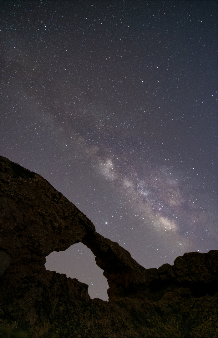
<svg viewBox="0 0 218 338">
<path fill-rule="evenodd" d="M 87 245 L 109 301 L 45 269 Z M 42 176 L 0 156 L 0 337 L 217 337 L 217 250 L 145 269 Z"/>
</svg>

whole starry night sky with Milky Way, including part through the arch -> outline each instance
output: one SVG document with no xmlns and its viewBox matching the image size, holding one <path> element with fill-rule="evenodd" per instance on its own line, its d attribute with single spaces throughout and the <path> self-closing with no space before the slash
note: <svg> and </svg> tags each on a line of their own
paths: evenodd
<svg viewBox="0 0 218 338">
<path fill-rule="evenodd" d="M 217 249 L 217 1 L 1 1 L 0 154 L 145 268 Z M 107 299 L 82 243 L 46 268 Z"/>
</svg>

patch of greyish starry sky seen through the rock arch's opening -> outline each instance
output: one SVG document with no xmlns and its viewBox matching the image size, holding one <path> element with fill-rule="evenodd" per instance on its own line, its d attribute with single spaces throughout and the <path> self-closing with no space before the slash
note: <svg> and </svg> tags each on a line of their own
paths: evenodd
<svg viewBox="0 0 218 338">
<path fill-rule="evenodd" d="M 65 251 L 53 251 L 46 256 L 46 270 L 65 273 L 67 277 L 76 278 L 89 285 L 90 297 L 108 301 L 108 283 L 95 262 L 92 251 L 81 242 L 71 245 Z"/>
</svg>

